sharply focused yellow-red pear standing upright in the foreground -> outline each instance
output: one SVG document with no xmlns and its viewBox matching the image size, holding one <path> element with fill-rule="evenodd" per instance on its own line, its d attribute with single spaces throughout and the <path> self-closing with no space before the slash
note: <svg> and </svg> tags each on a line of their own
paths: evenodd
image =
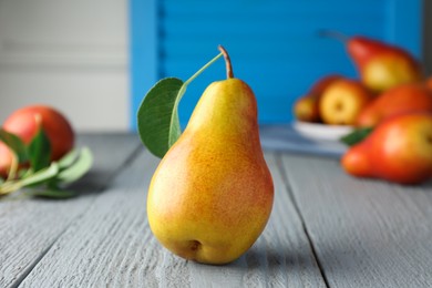
<svg viewBox="0 0 432 288">
<path fill-rule="evenodd" d="M 270 216 L 274 185 L 259 141 L 251 89 L 232 73 L 212 83 L 156 168 L 147 195 L 158 241 L 185 259 L 222 265 L 256 241 Z"/>
</svg>

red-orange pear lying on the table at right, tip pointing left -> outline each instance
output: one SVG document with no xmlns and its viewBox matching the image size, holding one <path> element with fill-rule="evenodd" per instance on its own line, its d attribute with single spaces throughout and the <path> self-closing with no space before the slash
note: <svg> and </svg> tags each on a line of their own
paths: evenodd
<svg viewBox="0 0 432 288">
<path fill-rule="evenodd" d="M 344 171 L 400 184 L 419 184 L 432 176 L 432 113 L 413 112 L 381 122 L 341 158 Z"/>
</svg>

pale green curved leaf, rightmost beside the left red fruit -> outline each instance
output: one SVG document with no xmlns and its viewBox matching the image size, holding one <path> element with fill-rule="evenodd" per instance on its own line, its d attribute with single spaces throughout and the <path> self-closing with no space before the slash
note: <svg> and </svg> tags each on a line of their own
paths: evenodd
<svg viewBox="0 0 432 288">
<path fill-rule="evenodd" d="M 90 148 L 83 147 L 73 164 L 59 172 L 55 177 L 55 182 L 60 182 L 62 184 L 72 183 L 88 173 L 92 165 L 93 154 Z"/>
</svg>

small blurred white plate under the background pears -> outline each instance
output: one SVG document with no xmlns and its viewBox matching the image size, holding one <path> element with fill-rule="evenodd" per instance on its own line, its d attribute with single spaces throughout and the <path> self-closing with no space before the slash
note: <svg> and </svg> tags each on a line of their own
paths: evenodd
<svg viewBox="0 0 432 288">
<path fill-rule="evenodd" d="M 331 141 L 338 141 L 353 130 L 352 126 L 348 125 L 326 125 L 299 121 L 294 122 L 292 127 L 306 137 Z"/>
</svg>

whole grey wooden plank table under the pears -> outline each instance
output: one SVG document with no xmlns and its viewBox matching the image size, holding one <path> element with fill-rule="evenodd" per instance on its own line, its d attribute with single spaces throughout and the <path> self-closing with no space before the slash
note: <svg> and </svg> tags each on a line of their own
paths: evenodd
<svg viewBox="0 0 432 288">
<path fill-rule="evenodd" d="M 284 150 L 279 132 L 263 130 L 271 217 L 226 266 L 155 240 L 145 207 L 158 160 L 136 135 L 80 135 L 95 164 L 78 197 L 0 199 L 0 287 L 432 287 L 431 184 L 352 178 L 335 151 Z"/>
</svg>

